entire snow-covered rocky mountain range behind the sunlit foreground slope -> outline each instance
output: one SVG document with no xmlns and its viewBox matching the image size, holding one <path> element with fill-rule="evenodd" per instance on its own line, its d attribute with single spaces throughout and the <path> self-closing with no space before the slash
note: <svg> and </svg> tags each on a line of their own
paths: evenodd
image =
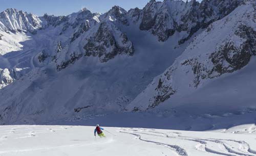
<svg viewBox="0 0 256 156">
<path fill-rule="evenodd" d="M 84 8 L 58 17 L 7 9 L 0 16 L 0 123 L 144 111 L 173 99 L 179 106 L 253 66 L 254 8 L 252 0 L 152 0 L 143 9 Z"/>
</svg>

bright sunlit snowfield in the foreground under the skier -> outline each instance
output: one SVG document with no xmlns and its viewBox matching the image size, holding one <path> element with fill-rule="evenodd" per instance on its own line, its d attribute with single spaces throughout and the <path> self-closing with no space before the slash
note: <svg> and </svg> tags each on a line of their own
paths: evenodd
<svg viewBox="0 0 256 156">
<path fill-rule="evenodd" d="M 256 155 L 256 135 L 92 126 L 0 126 L 0 155 Z"/>
</svg>

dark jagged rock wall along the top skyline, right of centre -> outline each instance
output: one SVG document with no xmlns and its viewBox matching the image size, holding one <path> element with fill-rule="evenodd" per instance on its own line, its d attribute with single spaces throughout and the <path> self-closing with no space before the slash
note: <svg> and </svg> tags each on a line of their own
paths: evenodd
<svg viewBox="0 0 256 156">
<path fill-rule="evenodd" d="M 159 41 L 166 41 L 175 32 L 186 32 L 179 44 L 184 43 L 199 29 L 223 18 L 236 9 L 242 1 L 150 1 L 143 8 L 140 30 L 151 31 Z M 134 11 L 133 11 L 134 12 Z M 140 13 L 135 14 L 139 18 Z"/>
</svg>

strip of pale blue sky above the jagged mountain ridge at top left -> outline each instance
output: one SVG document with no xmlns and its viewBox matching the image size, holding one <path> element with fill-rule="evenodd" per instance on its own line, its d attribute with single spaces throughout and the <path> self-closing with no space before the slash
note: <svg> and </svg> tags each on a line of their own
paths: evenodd
<svg viewBox="0 0 256 156">
<path fill-rule="evenodd" d="M 39 16 L 44 15 L 44 13 L 68 15 L 86 7 L 92 12 L 105 13 L 115 5 L 125 10 L 135 7 L 143 8 L 149 1 L 150 0 L 0 0 L 0 12 L 7 8 L 16 8 Z"/>
</svg>

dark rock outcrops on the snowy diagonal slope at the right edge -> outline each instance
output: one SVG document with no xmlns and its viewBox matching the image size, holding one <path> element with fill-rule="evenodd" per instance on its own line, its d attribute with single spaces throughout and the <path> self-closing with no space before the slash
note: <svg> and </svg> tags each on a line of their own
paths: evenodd
<svg viewBox="0 0 256 156">
<path fill-rule="evenodd" d="M 234 31 L 234 37 L 239 37 L 241 43 L 229 39 L 221 44 L 216 51 L 210 54 L 207 60 L 211 66 L 205 65 L 199 59 L 188 59 L 182 65 L 192 67 L 194 77 L 194 86 L 198 87 L 204 79 L 214 79 L 225 73 L 232 73 L 246 66 L 251 57 L 255 56 L 256 32 L 245 23 L 240 23 Z"/>
</svg>

